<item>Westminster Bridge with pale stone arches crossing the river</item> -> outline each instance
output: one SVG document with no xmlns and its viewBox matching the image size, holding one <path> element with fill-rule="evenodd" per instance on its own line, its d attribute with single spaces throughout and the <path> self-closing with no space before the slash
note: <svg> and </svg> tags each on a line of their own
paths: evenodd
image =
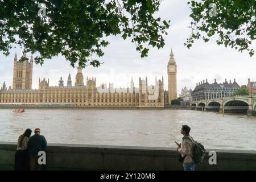
<svg viewBox="0 0 256 182">
<path fill-rule="evenodd" d="M 191 109 L 219 111 L 220 113 L 247 113 L 256 115 L 256 96 L 222 97 L 192 101 Z"/>
</svg>

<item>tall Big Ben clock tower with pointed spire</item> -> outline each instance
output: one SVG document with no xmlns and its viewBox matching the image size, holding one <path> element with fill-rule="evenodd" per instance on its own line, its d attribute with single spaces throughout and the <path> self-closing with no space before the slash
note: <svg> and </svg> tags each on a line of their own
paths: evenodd
<svg viewBox="0 0 256 182">
<path fill-rule="evenodd" d="M 170 54 L 170 59 L 167 65 L 168 73 L 168 104 L 171 105 L 171 101 L 177 99 L 177 65 L 174 60 L 174 53 Z"/>
</svg>

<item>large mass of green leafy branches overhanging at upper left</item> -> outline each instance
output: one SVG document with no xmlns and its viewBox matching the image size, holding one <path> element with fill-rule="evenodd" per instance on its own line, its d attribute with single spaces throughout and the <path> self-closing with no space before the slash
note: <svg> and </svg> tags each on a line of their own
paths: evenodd
<svg viewBox="0 0 256 182">
<path fill-rule="evenodd" d="M 104 56 L 102 48 L 109 44 L 104 39 L 119 34 L 123 40 L 133 36 L 131 42 L 146 57 L 148 49 L 142 44 L 162 48 L 162 37 L 170 26 L 170 20 L 162 23 L 153 16 L 162 0 L 125 0 L 120 6 L 117 1 L 105 4 L 103 0 L 44 1 L 46 17 L 38 16 L 34 1 L 15 2 L 4 1 L 0 6 L 0 51 L 9 55 L 18 44 L 25 52 L 36 53 L 35 63 L 41 65 L 45 59 L 63 55 L 72 67 L 98 67 L 100 62 L 91 57 Z"/>
</svg>

